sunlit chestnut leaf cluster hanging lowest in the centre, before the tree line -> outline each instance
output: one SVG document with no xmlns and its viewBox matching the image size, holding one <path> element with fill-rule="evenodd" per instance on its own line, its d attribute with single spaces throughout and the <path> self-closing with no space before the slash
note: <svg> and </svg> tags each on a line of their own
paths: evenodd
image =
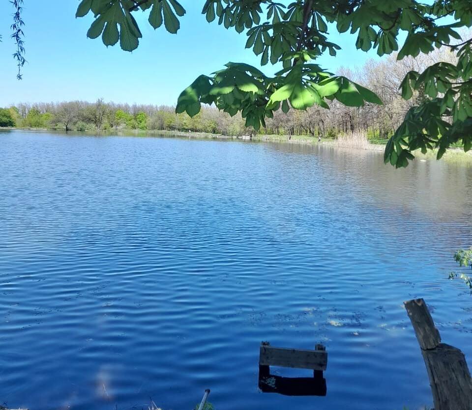
<svg viewBox="0 0 472 410">
<path fill-rule="evenodd" d="M 253 66 L 230 62 L 212 77 L 199 76 L 180 94 L 176 111 L 194 116 L 201 104 L 215 104 L 231 116 L 240 111 L 246 126 L 259 130 L 274 111 L 287 113 L 290 107 L 306 110 L 313 105 L 329 108 L 326 99 L 353 107 L 366 102 L 382 104 L 372 91 L 346 77 L 334 76 L 318 64 L 299 60 L 293 68 L 268 78 Z"/>
</svg>

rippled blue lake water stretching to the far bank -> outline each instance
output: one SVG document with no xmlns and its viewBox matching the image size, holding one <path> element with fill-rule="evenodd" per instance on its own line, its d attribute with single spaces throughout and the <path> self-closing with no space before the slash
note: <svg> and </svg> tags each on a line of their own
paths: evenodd
<svg viewBox="0 0 472 410">
<path fill-rule="evenodd" d="M 0 134 L 0 404 L 411 410 L 402 302 L 472 365 L 472 168 L 282 144 Z M 261 341 L 328 351 L 326 397 L 261 393 Z M 310 375 L 275 369 L 276 374 Z"/>
</svg>

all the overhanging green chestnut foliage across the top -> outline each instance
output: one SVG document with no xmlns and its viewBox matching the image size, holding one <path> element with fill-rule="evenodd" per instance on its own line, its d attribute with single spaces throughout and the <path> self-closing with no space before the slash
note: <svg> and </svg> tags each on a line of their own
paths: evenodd
<svg viewBox="0 0 472 410">
<path fill-rule="evenodd" d="M 195 0 L 192 0 L 195 1 Z M 336 56 L 340 47 L 329 40 L 328 30 L 357 34 L 362 51 L 376 49 L 379 56 L 398 52 L 398 59 L 448 47 L 457 54 L 456 65 L 440 62 L 424 72 L 409 72 L 401 84 L 405 99 L 423 97 L 390 138 L 385 162 L 406 167 L 412 151 L 439 148 L 438 158 L 452 144 L 472 146 L 472 39 L 458 30 L 472 26 L 471 0 L 202 0 L 207 21 L 247 35 L 246 48 L 261 56 L 261 64 L 281 62 L 283 69 L 267 77 L 255 67 L 230 62 L 211 75 L 199 76 L 179 96 L 177 113 L 199 113 L 201 104 L 236 115 L 259 130 L 265 118 L 290 107 L 329 108 L 327 101 L 360 107 L 382 104 L 372 91 L 346 77 L 336 76 L 314 63 L 324 53 Z M 177 0 L 82 0 L 77 17 L 95 16 L 87 35 L 123 50 L 139 45 L 141 30 L 133 17 L 149 9 L 149 24 L 164 25 L 171 33 L 180 28 L 185 9 Z M 452 23 L 442 24 L 445 16 Z M 406 39 L 400 44 L 400 33 Z M 403 38 L 403 37 L 402 37 Z"/>
</svg>

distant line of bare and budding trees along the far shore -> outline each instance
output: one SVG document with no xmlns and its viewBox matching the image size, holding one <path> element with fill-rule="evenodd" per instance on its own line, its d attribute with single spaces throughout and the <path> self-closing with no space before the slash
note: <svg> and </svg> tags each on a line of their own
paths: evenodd
<svg viewBox="0 0 472 410">
<path fill-rule="evenodd" d="M 338 74 L 373 90 L 383 105 L 367 103 L 363 107 L 347 107 L 336 100 L 330 109 L 318 106 L 306 111 L 277 111 L 266 120 L 260 133 L 312 135 L 335 138 L 340 134 L 361 131 L 371 138 L 387 139 L 401 124 L 408 109 L 421 99 L 424 92 L 416 92 L 415 98 L 401 98 L 400 83 L 405 75 L 415 70 L 422 72 L 438 61 L 454 62 L 455 55 L 441 49 L 428 55 L 396 61 L 392 55 L 381 61 L 368 61 L 358 70 L 341 68 Z M 20 103 L 0 109 L 0 126 L 52 128 L 77 131 L 107 130 L 176 130 L 240 136 L 254 132 L 245 126 L 240 115 L 231 117 L 215 107 L 205 107 L 197 116 L 175 113 L 173 106 L 144 104 L 116 104 L 97 99 L 94 103 L 68 101 L 59 103 Z"/>
</svg>

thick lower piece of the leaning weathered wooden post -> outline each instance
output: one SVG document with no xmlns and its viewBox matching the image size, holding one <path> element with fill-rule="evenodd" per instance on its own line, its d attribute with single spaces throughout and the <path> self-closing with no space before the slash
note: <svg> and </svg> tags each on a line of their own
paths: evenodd
<svg viewBox="0 0 472 410">
<path fill-rule="evenodd" d="M 437 410 L 471 410 L 472 379 L 464 353 L 441 343 L 423 350 L 423 358 Z"/>
</svg>

